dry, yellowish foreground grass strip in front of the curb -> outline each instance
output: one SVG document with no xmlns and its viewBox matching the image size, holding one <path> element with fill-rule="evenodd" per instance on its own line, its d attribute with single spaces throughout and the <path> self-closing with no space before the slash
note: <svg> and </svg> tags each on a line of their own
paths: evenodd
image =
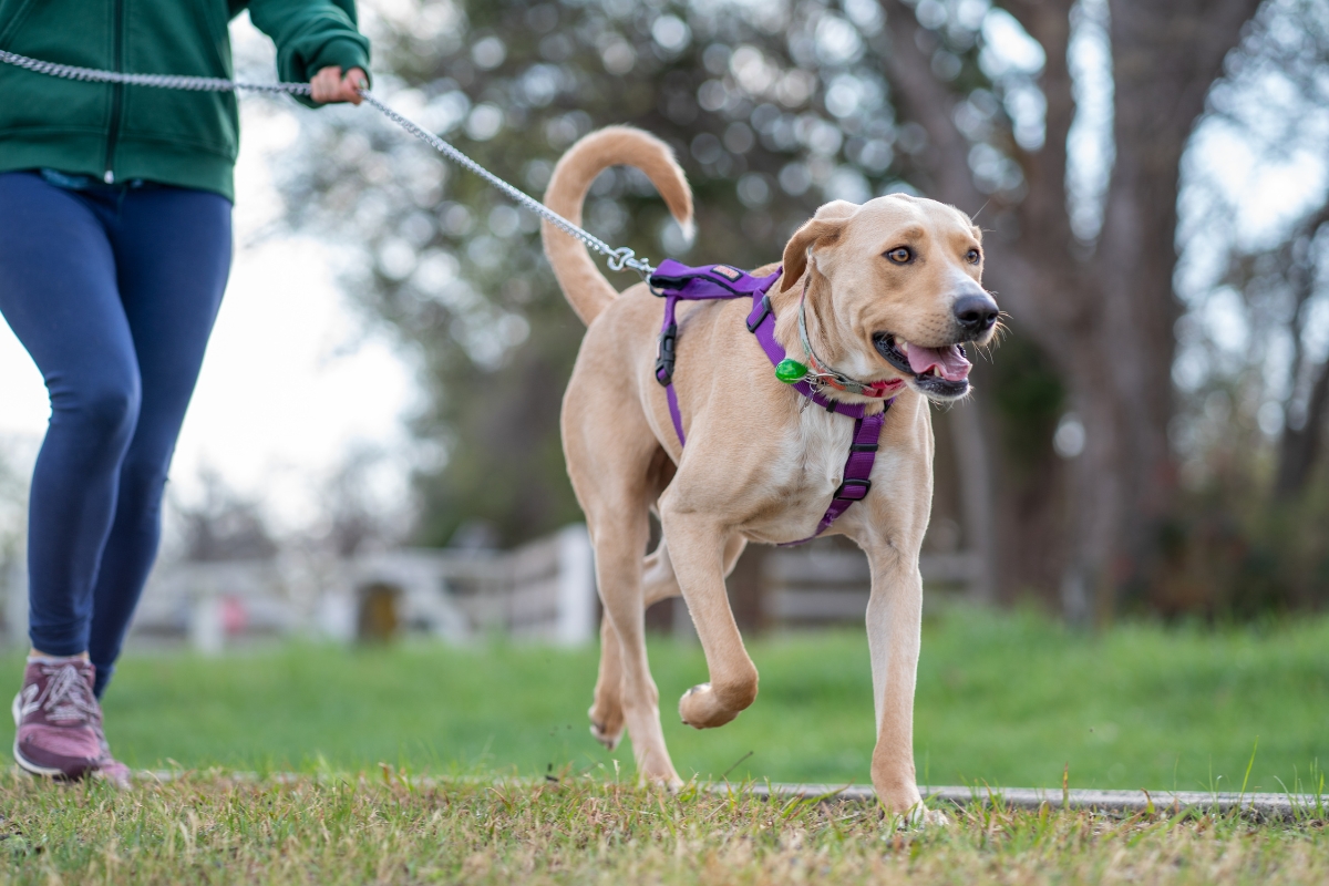
<svg viewBox="0 0 1329 886">
<path fill-rule="evenodd" d="M 867 804 L 622 782 L 235 781 L 117 793 L 0 774 L 15 883 L 1316 883 L 1322 822 L 952 810 L 897 830 Z"/>
</svg>

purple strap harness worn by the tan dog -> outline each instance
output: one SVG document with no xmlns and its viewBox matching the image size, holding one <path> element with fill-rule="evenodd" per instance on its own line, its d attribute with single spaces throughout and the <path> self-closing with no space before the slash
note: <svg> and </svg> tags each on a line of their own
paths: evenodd
<svg viewBox="0 0 1329 886">
<path fill-rule="evenodd" d="M 655 380 L 664 387 L 664 396 L 668 399 L 668 414 L 674 420 L 674 430 L 678 432 L 678 441 L 683 445 L 687 440 L 683 436 L 683 416 L 678 409 L 678 393 L 674 391 L 674 361 L 678 347 L 678 321 L 674 319 L 674 308 L 679 302 L 700 302 L 706 299 L 738 299 L 752 298 L 752 311 L 748 313 L 748 332 L 756 336 L 766 351 L 771 365 L 779 365 L 784 360 L 784 348 L 775 340 L 775 310 L 771 307 L 771 298 L 767 291 L 780 279 L 780 268 L 769 276 L 752 276 L 728 264 L 707 264 L 703 267 L 688 267 L 672 259 L 666 259 L 651 275 L 650 287 L 655 295 L 664 299 L 664 324 L 661 328 L 659 353 L 655 359 Z M 874 416 L 864 414 L 864 404 L 844 404 L 823 396 L 807 381 L 797 381 L 793 389 L 800 395 L 824 408 L 827 412 L 839 412 L 841 416 L 853 418 L 853 442 L 849 444 L 849 457 L 844 462 L 844 481 L 835 490 L 831 507 L 821 517 L 817 531 L 808 538 L 785 545 L 801 545 L 809 542 L 831 527 L 840 514 L 849 510 L 849 505 L 867 498 L 872 489 L 872 465 L 877 460 L 877 440 L 881 436 L 881 426 L 885 424 L 886 412 L 894 397 L 882 401 L 882 410 Z"/>
</svg>

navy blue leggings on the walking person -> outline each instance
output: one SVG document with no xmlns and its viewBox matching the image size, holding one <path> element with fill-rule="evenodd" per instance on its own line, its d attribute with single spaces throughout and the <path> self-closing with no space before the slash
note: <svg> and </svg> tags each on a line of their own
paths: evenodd
<svg viewBox="0 0 1329 886">
<path fill-rule="evenodd" d="M 161 535 L 161 499 L 231 260 L 231 205 L 150 183 L 0 174 L 0 313 L 51 395 L 28 513 L 29 636 L 88 651 L 97 693 Z"/>
</svg>

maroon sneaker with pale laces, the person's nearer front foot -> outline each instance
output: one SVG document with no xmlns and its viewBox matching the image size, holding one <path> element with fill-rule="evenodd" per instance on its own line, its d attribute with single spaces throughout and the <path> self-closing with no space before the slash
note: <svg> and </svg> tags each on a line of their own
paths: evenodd
<svg viewBox="0 0 1329 886">
<path fill-rule="evenodd" d="M 101 707 L 92 693 L 93 673 L 78 659 L 28 662 L 13 697 L 15 762 L 53 778 L 81 778 L 98 766 Z"/>
</svg>

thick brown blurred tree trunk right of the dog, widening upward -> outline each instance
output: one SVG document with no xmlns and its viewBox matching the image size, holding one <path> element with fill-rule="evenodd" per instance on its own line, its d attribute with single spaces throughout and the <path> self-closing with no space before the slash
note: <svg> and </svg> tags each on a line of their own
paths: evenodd
<svg viewBox="0 0 1329 886">
<path fill-rule="evenodd" d="M 1080 294 L 1092 320 L 1067 329 L 1079 355 L 1067 371 L 1088 432 L 1076 466 L 1084 498 L 1069 584 L 1096 595 L 1099 615 L 1124 587 L 1148 582 L 1159 529 L 1172 513 L 1176 464 L 1167 430 L 1180 316 L 1172 292 L 1180 159 L 1257 5 L 1110 0 L 1116 162 L 1088 263 L 1094 286 Z"/>
</svg>

